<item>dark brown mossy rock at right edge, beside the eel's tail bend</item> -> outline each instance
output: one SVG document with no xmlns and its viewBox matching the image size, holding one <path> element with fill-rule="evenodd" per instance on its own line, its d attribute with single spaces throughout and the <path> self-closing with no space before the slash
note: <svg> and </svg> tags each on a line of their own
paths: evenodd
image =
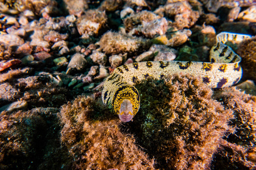
<svg viewBox="0 0 256 170">
<path fill-rule="evenodd" d="M 256 37 L 243 41 L 237 54 L 242 57 L 243 78 L 256 81 Z"/>
</svg>

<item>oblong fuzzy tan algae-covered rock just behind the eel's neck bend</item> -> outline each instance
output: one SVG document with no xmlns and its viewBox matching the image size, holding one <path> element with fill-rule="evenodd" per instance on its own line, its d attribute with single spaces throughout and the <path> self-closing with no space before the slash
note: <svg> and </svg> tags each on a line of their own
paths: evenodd
<svg viewBox="0 0 256 170">
<path fill-rule="evenodd" d="M 139 54 L 150 48 L 151 42 L 134 36 L 117 32 L 106 32 L 99 41 L 101 49 L 106 54 Z"/>
</svg>

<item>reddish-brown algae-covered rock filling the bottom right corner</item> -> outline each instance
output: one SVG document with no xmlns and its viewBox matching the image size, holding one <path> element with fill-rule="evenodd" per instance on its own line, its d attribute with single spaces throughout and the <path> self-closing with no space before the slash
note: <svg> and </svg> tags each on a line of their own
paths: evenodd
<svg viewBox="0 0 256 170">
<path fill-rule="evenodd" d="M 215 95 L 226 109 L 233 111 L 233 127 L 222 141 L 220 150 L 214 156 L 215 169 L 255 169 L 256 148 L 256 96 L 244 94 L 236 88 L 226 88 Z"/>
</svg>

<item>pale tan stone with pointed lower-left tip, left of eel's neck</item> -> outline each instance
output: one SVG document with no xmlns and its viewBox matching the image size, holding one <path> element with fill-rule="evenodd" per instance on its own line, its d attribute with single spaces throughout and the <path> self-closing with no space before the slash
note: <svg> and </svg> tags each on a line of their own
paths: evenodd
<svg viewBox="0 0 256 170">
<path fill-rule="evenodd" d="M 76 53 L 72 56 L 71 61 L 69 61 L 66 72 L 68 74 L 70 69 L 82 70 L 86 67 L 87 63 L 84 55 Z"/>
</svg>

